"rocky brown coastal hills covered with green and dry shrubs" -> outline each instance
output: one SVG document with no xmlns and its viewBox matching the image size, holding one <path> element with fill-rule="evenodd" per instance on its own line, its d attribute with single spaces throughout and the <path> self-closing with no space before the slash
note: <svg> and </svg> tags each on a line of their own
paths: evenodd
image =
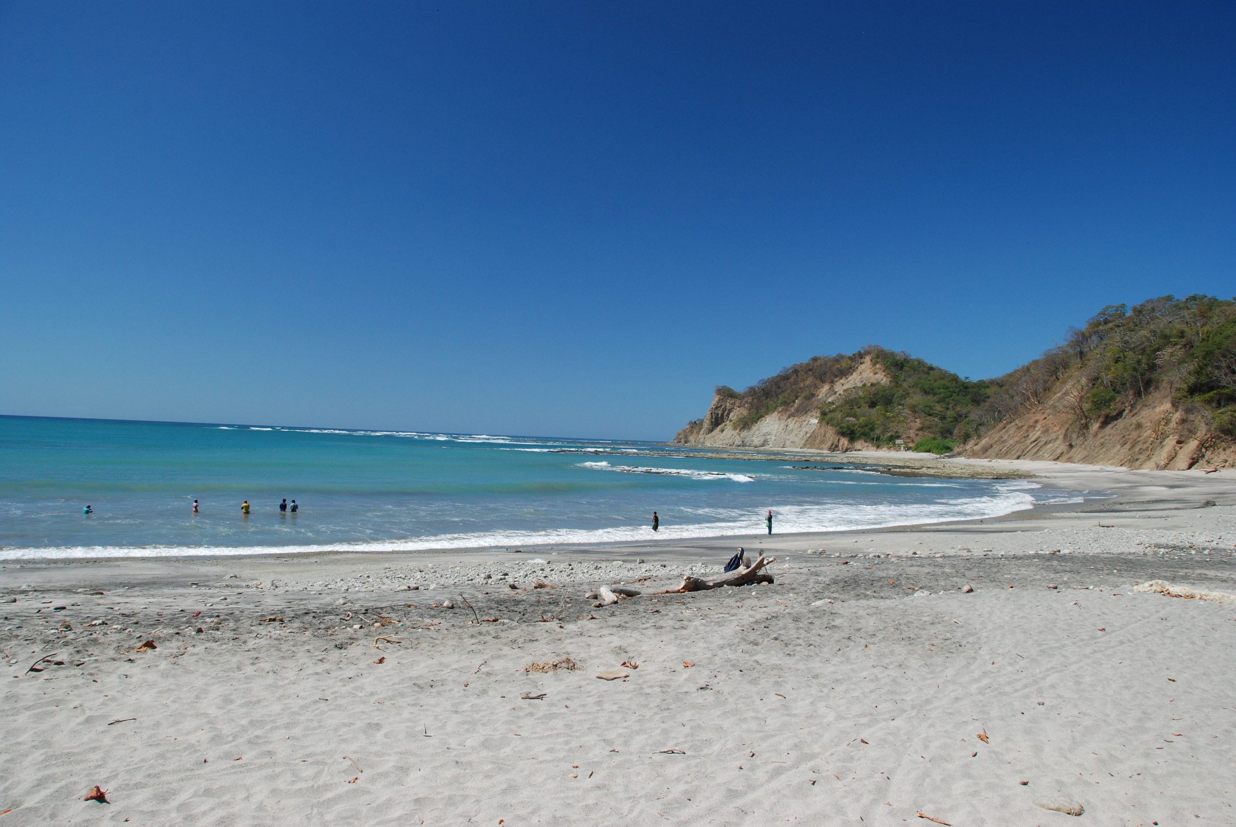
<svg viewBox="0 0 1236 827">
<path fill-rule="evenodd" d="M 672 442 L 1236 467 L 1236 300 L 1105 307 L 1064 344 L 984 381 L 876 346 L 813 357 L 740 393 L 718 386 Z"/>
</svg>

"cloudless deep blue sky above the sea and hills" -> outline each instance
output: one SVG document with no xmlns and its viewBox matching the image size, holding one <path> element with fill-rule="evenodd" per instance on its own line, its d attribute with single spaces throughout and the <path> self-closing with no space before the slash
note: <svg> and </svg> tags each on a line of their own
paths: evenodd
<svg viewBox="0 0 1236 827">
<path fill-rule="evenodd" d="M 1231 2 L 0 4 L 0 414 L 665 439 L 1236 293 Z"/>
</svg>

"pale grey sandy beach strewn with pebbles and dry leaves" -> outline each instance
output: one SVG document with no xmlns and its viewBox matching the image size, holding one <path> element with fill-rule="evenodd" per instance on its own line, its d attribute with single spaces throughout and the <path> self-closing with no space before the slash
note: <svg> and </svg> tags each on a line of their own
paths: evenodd
<svg viewBox="0 0 1236 827">
<path fill-rule="evenodd" d="M 1115 496 L 832 534 L 6 564 L 2 817 L 1236 823 L 1236 605 L 1133 591 L 1236 594 L 1236 472 L 980 464 Z M 776 583 L 656 594 L 735 546 Z M 617 583 L 641 594 L 585 597 Z M 575 668 L 527 670 L 551 662 Z"/>
</svg>

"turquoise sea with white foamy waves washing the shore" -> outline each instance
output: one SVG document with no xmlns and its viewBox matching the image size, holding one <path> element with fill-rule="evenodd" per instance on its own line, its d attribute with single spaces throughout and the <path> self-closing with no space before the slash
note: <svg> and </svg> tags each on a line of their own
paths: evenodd
<svg viewBox="0 0 1236 827">
<path fill-rule="evenodd" d="M 836 531 L 989 517 L 1084 495 L 1023 480 L 791 467 L 819 464 L 811 460 L 656 455 L 666 451 L 540 437 L 0 416 L 0 559 L 750 534 L 764 531 L 769 509 L 777 533 Z M 300 511 L 281 513 L 284 497 Z M 252 506 L 247 517 L 242 500 Z M 85 505 L 94 513 L 83 515 Z"/>
</svg>

